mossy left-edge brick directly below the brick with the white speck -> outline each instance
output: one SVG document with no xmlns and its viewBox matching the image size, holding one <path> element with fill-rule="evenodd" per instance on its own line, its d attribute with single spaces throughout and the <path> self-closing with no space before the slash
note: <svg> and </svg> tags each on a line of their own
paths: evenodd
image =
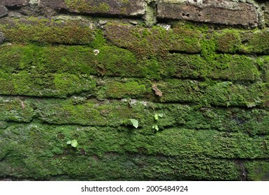
<svg viewBox="0 0 269 195">
<path fill-rule="evenodd" d="M 71 74 L 37 74 L 22 70 L 17 74 L 8 74 L 1 79 L 1 95 L 28 95 L 38 97 L 59 97 L 76 93 L 94 93 L 96 82 L 91 77 Z"/>
</svg>

